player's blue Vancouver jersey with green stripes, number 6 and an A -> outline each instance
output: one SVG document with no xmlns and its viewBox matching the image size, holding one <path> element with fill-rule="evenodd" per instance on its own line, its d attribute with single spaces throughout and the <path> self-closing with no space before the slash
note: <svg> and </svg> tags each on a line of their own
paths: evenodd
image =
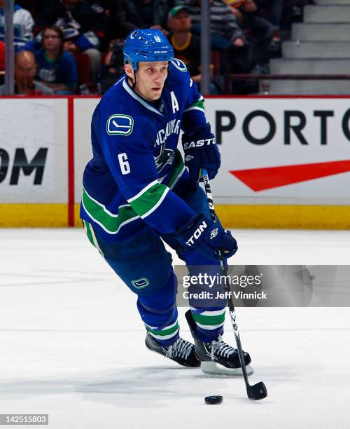
<svg viewBox="0 0 350 429">
<path fill-rule="evenodd" d="M 203 97 L 180 60 L 172 61 L 158 102 L 139 97 L 123 76 L 92 116 L 80 217 L 109 242 L 147 226 L 176 231 L 195 214 L 179 196 L 188 183 L 179 133 L 206 124 Z"/>
</svg>

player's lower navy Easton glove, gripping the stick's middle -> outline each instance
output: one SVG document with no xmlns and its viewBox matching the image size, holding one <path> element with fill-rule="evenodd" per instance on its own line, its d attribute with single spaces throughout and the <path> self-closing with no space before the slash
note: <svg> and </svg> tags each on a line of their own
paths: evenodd
<svg viewBox="0 0 350 429">
<path fill-rule="evenodd" d="M 237 241 L 230 231 L 225 231 L 220 224 L 214 224 L 204 214 L 196 214 L 190 222 L 181 226 L 175 234 L 176 241 L 182 250 L 197 250 L 208 259 L 218 259 L 217 250 L 223 252 L 225 258 L 237 252 Z"/>
</svg>

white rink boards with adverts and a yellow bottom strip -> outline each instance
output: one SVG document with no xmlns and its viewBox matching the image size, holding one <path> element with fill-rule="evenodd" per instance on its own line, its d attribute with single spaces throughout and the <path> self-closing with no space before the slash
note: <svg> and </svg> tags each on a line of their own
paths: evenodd
<svg viewBox="0 0 350 429">
<path fill-rule="evenodd" d="M 0 98 L 0 226 L 80 226 L 98 97 Z M 225 226 L 350 228 L 350 97 L 208 97 Z"/>
</svg>

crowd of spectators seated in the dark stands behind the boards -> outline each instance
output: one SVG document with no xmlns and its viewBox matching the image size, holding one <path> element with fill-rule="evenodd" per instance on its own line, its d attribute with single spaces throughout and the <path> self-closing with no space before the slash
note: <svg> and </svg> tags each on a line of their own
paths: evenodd
<svg viewBox="0 0 350 429">
<path fill-rule="evenodd" d="M 223 76 L 268 73 L 270 57 L 280 55 L 281 24 L 288 29 L 307 0 L 210 3 L 211 93 L 218 94 Z M 0 0 L 0 83 L 4 7 Z M 17 0 L 13 23 L 16 94 L 104 93 L 124 73 L 125 37 L 148 27 L 166 34 L 200 85 L 201 0 Z"/>
</svg>

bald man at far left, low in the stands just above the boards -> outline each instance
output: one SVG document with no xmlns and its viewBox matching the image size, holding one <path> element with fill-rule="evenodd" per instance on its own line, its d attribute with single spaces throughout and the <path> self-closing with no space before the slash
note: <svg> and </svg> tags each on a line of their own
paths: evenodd
<svg viewBox="0 0 350 429">
<path fill-rule="evenodd" d="M 53 95 L 51 88 L 34 81 L 36 62 L 29 50 L 21 50 L 15 56 L 15 94 L 16 95 Z M 5 95 L 5 86 L 0 86 L 0 95 Z"/>
</svg>

